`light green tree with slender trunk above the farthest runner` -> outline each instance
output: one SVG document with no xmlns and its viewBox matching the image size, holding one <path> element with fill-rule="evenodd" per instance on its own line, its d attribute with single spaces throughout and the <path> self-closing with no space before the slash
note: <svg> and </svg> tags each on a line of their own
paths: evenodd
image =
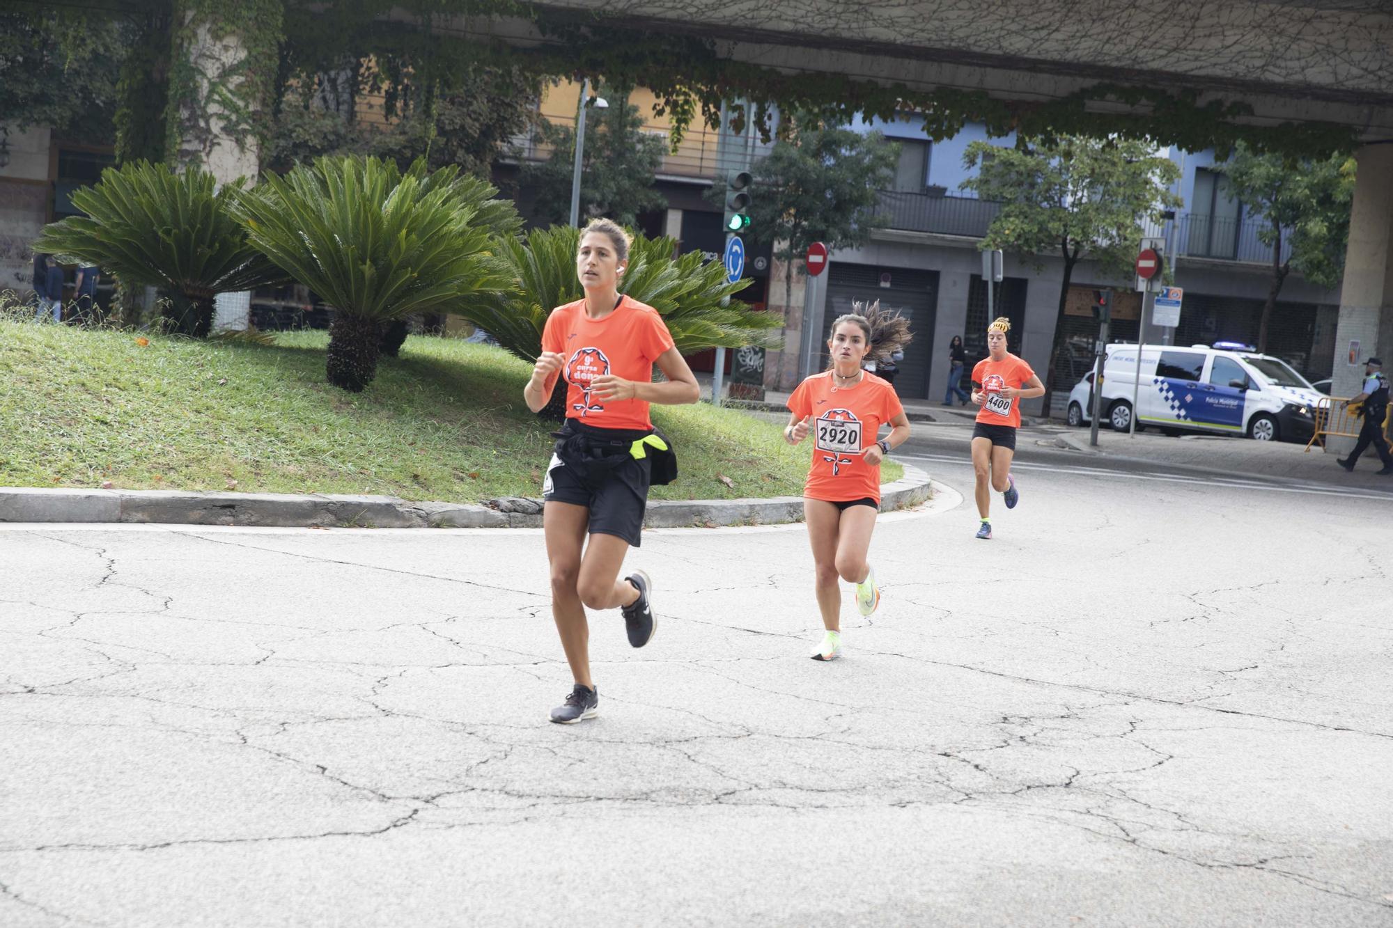
<svg viewBox="0 0 1393 928">
<path fill-rule="evenodd" d="M 963 156 L 976 174 L 964 190 L 1002 203 L 986 230 L 982 249 L 1002 248 L 1027 258 L 1059 255 L 1064 279 L 1045 379 L 1043 408 L 1056 389 L 1056 364 L 1064 350 L 1064 307 L 1074 268 L 1082 259 L 1106 276 L 1131 273 L 1141 245 L 1141 223 L 1160 222 L 1165 209 L 1180 206 L 1170 185 L 1180 169 L 1146 142 L 1070 135 L 1021 139 L 1015 148 L 972 142 Z"/>
</svg>

